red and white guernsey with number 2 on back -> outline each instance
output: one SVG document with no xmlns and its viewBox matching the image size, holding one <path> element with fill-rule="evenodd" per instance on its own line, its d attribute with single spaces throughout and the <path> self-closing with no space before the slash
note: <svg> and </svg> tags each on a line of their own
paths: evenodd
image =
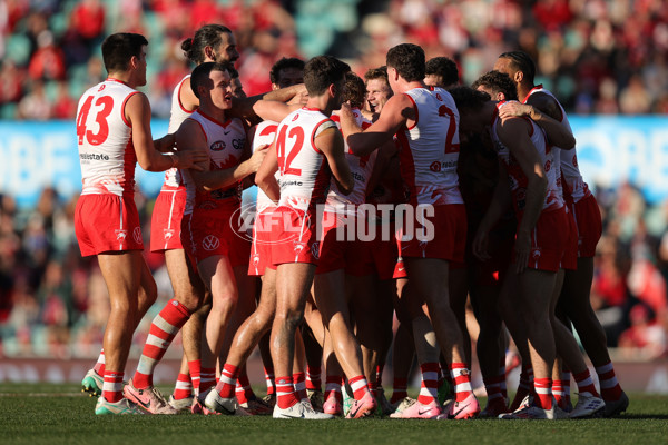
<svg viewBox="0 0 668 445">
<path fill-rule="evenodd" d="M 405 95 L 415 108 L 415 123 L 396 138 L 410 204 L 463 204 L 456 175 L 460 116 L 452 96 L 442 88 L 414 88 Z"/>
</svg>

